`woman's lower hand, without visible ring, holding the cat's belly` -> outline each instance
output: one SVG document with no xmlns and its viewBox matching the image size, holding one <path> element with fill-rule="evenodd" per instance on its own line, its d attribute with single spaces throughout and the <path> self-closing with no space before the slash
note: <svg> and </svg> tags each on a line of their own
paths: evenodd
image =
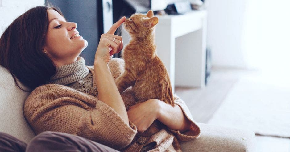
<svg viewBox="0 0 290 152">
<path fill-rule="evenodd" d="M 129 120 L 137 127 L 137 131 L 143 133 L 154 120 L 158 119 L 159 102 L 157 99 L 149 99 L 131 106 L 127 113 Z"/>
</svg>

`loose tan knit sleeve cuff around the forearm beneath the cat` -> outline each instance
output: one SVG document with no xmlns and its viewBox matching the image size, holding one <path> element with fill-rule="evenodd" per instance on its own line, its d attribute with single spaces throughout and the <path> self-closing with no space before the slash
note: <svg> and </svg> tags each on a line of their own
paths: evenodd
<svg viewBox="0 0 290 152">
<path fill-rule="evenodd" d="M 184 103 L 182 99 L 180 99 L 177 95 L 174 95 L 174 102 L 176 105 L 178 105 L 186 118 L 191 122 L 190 129 L 188 131 L 185 131 L 183 133 L 180 133 L 178 130 L 173 130 L 168 128 L 169 131 L 171 131 L 180 141 L 189 141 L 194 138 L 199 137 L 200 135 L 200 128 L 197 126 L 197 124 L 194 122 L 192 115 Z"/>
</svg>

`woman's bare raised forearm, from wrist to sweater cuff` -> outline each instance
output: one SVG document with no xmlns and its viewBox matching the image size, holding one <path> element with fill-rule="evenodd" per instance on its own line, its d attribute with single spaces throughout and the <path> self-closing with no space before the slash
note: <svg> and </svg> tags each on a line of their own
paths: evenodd
<svg viewBox="0 0 290 152">
<path fill-rule="evenodd" d="M 113 108 L 129 125 L 126 107 L 107 64 L 94 64 L 99 99 Z"/>
</svg>

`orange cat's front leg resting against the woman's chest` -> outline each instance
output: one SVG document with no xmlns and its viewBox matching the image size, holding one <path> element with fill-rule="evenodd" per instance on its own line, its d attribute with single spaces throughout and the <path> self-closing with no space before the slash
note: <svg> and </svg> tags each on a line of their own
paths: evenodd
<svg viewBox="0 0 290 152">
<path fill-rule="evenodd" d="M 119 78 L 116 79 L 115 83 L 118 91 L 123 93 L 123 91 L 134 84 L 134 79 L 127 71 L 125 71 Z"/>
</svg>

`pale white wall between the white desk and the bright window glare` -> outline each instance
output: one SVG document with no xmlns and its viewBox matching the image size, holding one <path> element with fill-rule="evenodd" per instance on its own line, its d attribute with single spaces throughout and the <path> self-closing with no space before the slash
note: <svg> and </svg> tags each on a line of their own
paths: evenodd
<svg viewBox="0 0 290 152">
<path fill-rule="evenodd" d="M 207 44 L 213 66 L 246 67 L 243 26 L 245 0 L 208 0 Z"/>
</svg>

